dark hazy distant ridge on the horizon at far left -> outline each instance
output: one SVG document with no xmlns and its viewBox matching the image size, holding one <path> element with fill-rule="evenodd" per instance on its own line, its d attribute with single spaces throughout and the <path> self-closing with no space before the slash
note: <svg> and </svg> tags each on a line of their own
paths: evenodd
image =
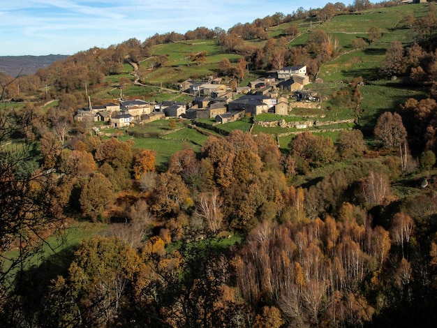
<svg viewBox="0 0 437 328">
<path fill-rule="evenodd" d="M 54 61 L 66 59 L 65 54 L 47 56 L 0 56 L 0 72 L 10 76 L 35 74 L 38 68 L 50 66 Z"/>
</svg>

